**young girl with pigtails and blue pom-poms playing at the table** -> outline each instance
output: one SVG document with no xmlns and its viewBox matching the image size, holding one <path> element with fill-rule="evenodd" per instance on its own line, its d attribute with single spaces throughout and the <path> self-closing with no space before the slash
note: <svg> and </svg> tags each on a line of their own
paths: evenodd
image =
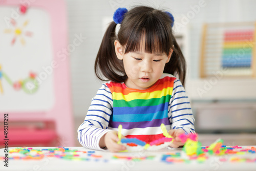
<svg viewBox="0 0 256 171">
<path fill-rule="evenodd" d="M 151 142 L 162 138 L 161 123 L 178 135 L 195 133 L 185 90 L 185 59 L 173 35 L 173 15 L 151 7 L 119 8 L 101 42 L 95 73 L 105 80 L 92 99 L 78 140 L 91 149 L 125 150 L 118 125 L 127 138 Z M 120 29 L 116 35 L 116 26 Z M 176 78 L 174 75 L 178 76 Z"/>
</svg>

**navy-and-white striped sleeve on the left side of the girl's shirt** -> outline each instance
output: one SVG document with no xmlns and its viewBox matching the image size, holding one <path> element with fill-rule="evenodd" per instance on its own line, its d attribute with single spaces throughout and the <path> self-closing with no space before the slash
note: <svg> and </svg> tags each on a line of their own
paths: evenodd
<svg viewBox="0 0 256 171">
<path fill-rule="evenodd" d="M 92 99 L 84 122 L 78 127 L 78 141 L 86 148 L 102 150 L 100 138 L 109 132 L 109 120 L 112 114 L 113 100 L 110 89 L 102 84 Z"/>
</svg>

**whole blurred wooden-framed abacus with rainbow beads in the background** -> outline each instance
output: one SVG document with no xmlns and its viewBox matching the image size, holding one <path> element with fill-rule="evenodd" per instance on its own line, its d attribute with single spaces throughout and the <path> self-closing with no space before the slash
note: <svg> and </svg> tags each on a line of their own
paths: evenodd
<svg viewBox="0 0 256 171">
<path fill-rule="evenodd" d="M 256 77 L 256 23 L 204 24 L 200 77 Z"/>
</svg>

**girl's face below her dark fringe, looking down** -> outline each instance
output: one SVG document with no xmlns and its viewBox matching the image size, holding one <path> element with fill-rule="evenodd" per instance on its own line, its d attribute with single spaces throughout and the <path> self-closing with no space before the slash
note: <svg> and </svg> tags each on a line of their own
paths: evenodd
<svg viewBox="0 0 256 171">
<path fill-rule="evenodd" d="M 118 59 L 123 60 L 124 70 L 128 77 L 124 82 L 125 85 L 128 88 L 140 90 L 151 88 L 156 83 L 163 74 L 165 63 L 172 55 L 172 52 L 168 55 L 145 53 L 143 46 L 140 51 L 124 54 L 118 40 L 115 40 L 115 49 Z"/>
</svg>

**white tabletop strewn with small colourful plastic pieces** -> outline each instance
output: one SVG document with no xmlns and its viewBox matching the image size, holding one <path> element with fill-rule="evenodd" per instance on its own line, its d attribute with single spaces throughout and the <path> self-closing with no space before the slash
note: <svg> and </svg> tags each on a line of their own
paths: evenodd
<svg viewBox="0 0 256 171">
<path fill-rule="evenodd" d="M 246 146 L 242 146 L 245 148 Z M 33 149 L 44 149 L 55 147 L 33 147 Z M 164 148 L 160 151 L 143 151 L 143 152 L 123 152 L 123 153 L 110 153 L 102 151 L 93 151 L 84 147 L 68 147 L 71 151 L 77 149 L 76 152 L 79 155 L 79 159 L 61 159 L 57 157 L 47 157 L 40 160 L 23 160 L 23 159 L 8 159 L 8 167 L 4 166 L 3 158 L 0 158 L 0 170 L 256 170 L 255 162 L 230 162 L 231 157 L 250 158 L 256 159 L 256 154 L 245 155 L 228 155 L 228 156 L 209 156 L 209 158 L 199 163 L 197 160 L 191 160 L 186 162 L 174 162 L 167 163 L 162 161 L 162 157 L 165 154 L 180 153 L 180 157 L 177 159 L 188 159 L 188 156 L 182 151 L 182 148 L 168 149 Z M 13 150 L 14 148 L 9 148 Z M 47 152 L 49 153 L 49 152 Z M 69 153 L 69 152 L 68 152 Z M 68 154 L 65 152 L 65 154 Z M 71 152 L 74 154 L 74 152 Z M 15 153 L 16 156 L 22 156 L 22 154 Z M 62 153 L 63 154 L 63 153 Z M 134 161 L 128 159 L 115 159 L 113 156 L 118 155 L 123 157 L 137 157 L 147 159 Z M 4 148 L 0 149 L 0 156 L 5 156 Z M 9 157 L 14 154 L 9 154 Z M 150 158 L 151 156 L 151 158 Z M 88 160 L 87 160 L 88 159 Z M 226 159 L 222 161 L 220 159 Z"/>
</svg>

